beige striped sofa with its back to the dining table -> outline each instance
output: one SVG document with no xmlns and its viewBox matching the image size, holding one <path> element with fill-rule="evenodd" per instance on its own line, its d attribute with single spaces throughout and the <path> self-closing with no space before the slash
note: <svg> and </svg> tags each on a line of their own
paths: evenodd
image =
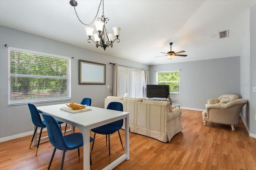
<svg viewBox="0 0 256 170">
<path fill-rule="evenodd" d="M 105 108 L 110 102 L 120 102 L 124 111 L 129 112 L 130 131 L 167 142 L 182 131 L 181 114 L 179 108 L 172 109 L 170 102 L 108 96 Z M 124 127 L 124 126 L 123 126 Z"/>
</svg>

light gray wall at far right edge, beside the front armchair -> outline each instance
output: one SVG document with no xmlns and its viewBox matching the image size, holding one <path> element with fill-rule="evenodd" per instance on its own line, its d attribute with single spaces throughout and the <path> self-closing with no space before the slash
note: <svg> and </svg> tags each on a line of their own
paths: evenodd
<svg viewBox="0 0 256 170">
<path fill-rule="evenodd" d="M 248 100 L 246 107 L 242 109 L 242 119 L 250 136 L 256 138 L 256 92 L 252 88 L 256 86 L 256 4 L 250 8 L 242 53 L 240 58 L 241 68 L 241 96 Z"/>
</svg>

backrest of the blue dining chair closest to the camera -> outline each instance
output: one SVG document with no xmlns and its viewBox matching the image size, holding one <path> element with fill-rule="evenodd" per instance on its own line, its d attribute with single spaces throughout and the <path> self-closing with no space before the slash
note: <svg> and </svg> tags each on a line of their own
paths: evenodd
<svg viewBox="0 0 256 170">
<path fill-rule="evenodd" d="M 42 115 L 46 124 L 49 141 L 52 146 L 59 150 L 68 150 L 68 146 L 56 119 L 51 115 L 46 115 L 44 113 Z"/>
</svg>

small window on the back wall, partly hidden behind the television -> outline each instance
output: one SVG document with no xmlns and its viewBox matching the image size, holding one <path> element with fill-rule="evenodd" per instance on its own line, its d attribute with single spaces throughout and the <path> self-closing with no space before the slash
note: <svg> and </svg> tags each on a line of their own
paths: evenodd
<svg viewBox="0 0 256 170">
<path fill-rule="evenodd" d="M 180 93 L 180 71 L 156 72 L 156 84 L 169 85 L 170 93 Z"/>
</svg>

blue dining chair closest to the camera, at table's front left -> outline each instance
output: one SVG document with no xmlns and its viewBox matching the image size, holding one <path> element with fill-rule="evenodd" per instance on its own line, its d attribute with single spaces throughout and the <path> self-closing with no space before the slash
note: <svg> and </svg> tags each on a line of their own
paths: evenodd
<svg viewBox="0 0 256 170">
<path fill-rule="evenodd" d="M 49 141 L 52 144 L 52 146 L 54 147 L 54 150 L 52 152 L 52 157 L 51 157 L 51 160 L 50 160 L 50 163 L 48 166 L 48 170 L 51 167 L 52 160 L 53 160 L 56 149 L 63 150 L 62 161 L 61 161 L 61 166 L 60 166 L 61 170 L 63 169 L 65 153 L 67 150 L 78 149 L 78 161 L 80 162 L 79 148 L 84 145 L 82 133 L 71 133 L 69 135 L 63 136 L 62 131 L 61 131 L 60 127 L 58 126 L 58 122 L 56 121 L 56 119 L 54 119 L 54 117 L 43 113 L 43 118 L 46 123 Z M 92 139 L 92 137 L 90 137 L 90 142 L 92 142 L 92 141 L 93 141 L 93 139 Z M 91 157 L 90 157 L 90 166 L 92 166 Z"/>
</svg>

